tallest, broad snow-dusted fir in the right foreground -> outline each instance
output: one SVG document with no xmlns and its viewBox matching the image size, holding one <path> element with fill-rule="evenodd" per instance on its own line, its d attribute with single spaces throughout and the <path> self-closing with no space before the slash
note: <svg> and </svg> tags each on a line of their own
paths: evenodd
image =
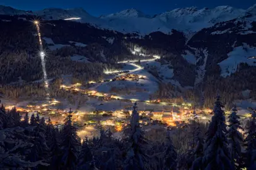
<svg viewBox="0 0 256 170">
<path fill-rule="evenodd" d="M 202 157 L 202 169 L 232 170 L 230 150 L 228 149 L 228 139 L 226 138 L 226 124 L 223 105 L 220 96 L 217 96 L 214 105 L 214 115 L 207 130 L 204 157 Z"/>
</svg>

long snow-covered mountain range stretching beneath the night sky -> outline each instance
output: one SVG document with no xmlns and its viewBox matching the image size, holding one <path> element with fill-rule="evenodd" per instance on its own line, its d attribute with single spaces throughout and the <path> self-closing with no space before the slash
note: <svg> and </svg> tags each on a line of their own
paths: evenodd
<svg viewBox="0 0 256 170">
<path fill-rule="evenodd" d="M 45 20 L 64 20 L 66 18 L 81 18 L 81 23 L 90 23 L 99 28 L 107 28 L 123 33 L 139 33 L 142 35 L 153 31 L 171 33 L 172 29 L 179 31 L 199 31 L 216 23 L 233 20 L 240 16 L 255 15 L 256 4 L 247 10 L 231 6 L 218 6 L 213 9 L 178 8 L 154 17 L 148 16 L 137 9 L 126 9 L 119 13 L 108 14 L 97 18 L 91 16 L 83 8 L 60 9 L 48 8 L 41 11 L 21 11 L 8 6 L 0 6 L 0 14 L 34 14 Z"/>
</svg>

